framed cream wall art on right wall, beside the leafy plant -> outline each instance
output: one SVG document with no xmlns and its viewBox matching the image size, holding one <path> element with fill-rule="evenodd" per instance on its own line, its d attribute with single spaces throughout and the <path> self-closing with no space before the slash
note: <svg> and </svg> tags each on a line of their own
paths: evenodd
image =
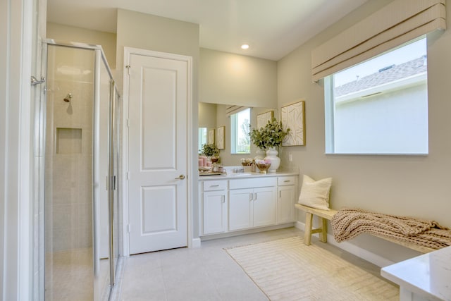
<svg viewBox="0 0 451 301">
<path fill-rule="evenodd" d="M 305 102 L 303 100 L 282 106 L 280 121 L 284 128 L 290 128 L 290 133 L 283 140 L 282 146 L 305 145 Z"/>
</svg>

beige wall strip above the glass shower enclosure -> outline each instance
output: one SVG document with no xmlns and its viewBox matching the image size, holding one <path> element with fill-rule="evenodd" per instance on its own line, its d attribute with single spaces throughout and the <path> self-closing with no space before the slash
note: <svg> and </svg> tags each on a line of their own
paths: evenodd
<svg viewBox="0 0 451 301">
<path fill-rule="evenodd" d="M 47 23 L 47 38 L 57 42 L 80 42 L 86 44 L 101 45 L 104 49 L 106 61 L 111 69 L 116 68 L 116 34 L 87 30 L 85 28 L 68 25 Z"/>
</svg>

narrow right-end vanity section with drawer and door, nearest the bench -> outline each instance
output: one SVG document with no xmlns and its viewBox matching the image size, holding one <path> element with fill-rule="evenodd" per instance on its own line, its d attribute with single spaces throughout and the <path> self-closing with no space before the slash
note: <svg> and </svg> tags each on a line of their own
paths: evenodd
<svg viewBox="0 0 451 301">
<path fill-rule="evenodd" d="M 295 221 L 295 201 L 297 197 L 297 176 L 277 178 L 277 223 Z"/>
</svg>

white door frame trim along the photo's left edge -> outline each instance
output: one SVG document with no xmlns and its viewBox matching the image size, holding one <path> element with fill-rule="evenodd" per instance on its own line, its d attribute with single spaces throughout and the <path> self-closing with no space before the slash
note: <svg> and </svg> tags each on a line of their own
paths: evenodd
<svg viewBox="0 0 451 301">
<path fill-rule="evenodd" d="M 32 300 L 35 99 L 31 87 L 37 0 L 1 1 L 0 39 L 0 298 Z M 38 20 L 39 21 L 39 20 Z"/>
</svg>

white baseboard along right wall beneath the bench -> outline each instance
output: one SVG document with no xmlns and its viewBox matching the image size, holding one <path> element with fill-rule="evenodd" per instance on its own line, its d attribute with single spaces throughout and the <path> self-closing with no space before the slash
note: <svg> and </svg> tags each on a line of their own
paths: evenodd
<svg viewBox="0 0 451 301">
<path fill-rule="evenodd" d="M 295 223 L 295 227 L 298 228 L 301 231 L 305 230 L 305 223 L 302 223 L 300 221 L 297 221 Z M 319 233 L 315 233 L 314 236 L 319 238 Z M 335 247 L 339 247 L 342 250 L 345 250 L 346 252 L 349 252 L 351 254 L 354 254 L 357 257 L 360 257 L 367 262 L 371 262 L 372 264 L 376 264 L 376 266 L 389 266 L 390 264 L 394 264 L 395 262 L 392 262 L 388 259 L 385 259 L 378 254 L 374 254 L 373 252 L 369 252 L 368 250 L 362 249 L 362 247 L 357 247 L 357 245 L 353 245 L 350 242 L 337 242 L 335 238 L 333 238 L 333 235 L 328 234 L 327 235 L 327 242 L 330 243 L 330 245 L 334 245 Z"/>
</svg>

